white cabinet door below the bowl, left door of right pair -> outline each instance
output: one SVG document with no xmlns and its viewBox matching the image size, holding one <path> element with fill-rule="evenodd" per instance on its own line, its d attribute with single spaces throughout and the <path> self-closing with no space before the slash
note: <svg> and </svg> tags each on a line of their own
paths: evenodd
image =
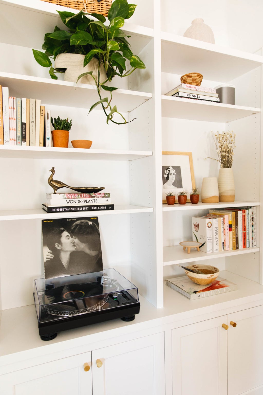
<svg viewBox="0 0 263 395">
<path fill-rule="evenodd" d="M 227 394 L 226 316 L 172 330 L 173 395 Z"/>
</svg>

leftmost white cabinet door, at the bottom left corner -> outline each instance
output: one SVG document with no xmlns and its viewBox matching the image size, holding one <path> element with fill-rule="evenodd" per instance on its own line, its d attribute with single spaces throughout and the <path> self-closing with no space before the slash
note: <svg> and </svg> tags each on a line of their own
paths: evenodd
<svg viewBox="0 0 263 395">
<path fill-rule="evenodd" d="M 1 395 L 92 395 L 91 352 L 0 376 Z"/>
</svg>

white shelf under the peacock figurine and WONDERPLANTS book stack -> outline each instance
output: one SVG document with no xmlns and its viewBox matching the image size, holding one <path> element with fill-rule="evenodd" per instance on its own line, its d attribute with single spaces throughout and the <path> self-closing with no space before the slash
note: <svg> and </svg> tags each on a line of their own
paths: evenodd
<svg viewBox="0 0 263 395">
<path fill-rule="evenodd" d="M 115 215 L 115 214 L 134 214 L 134 213 L 151 213 L 151 207 L 142 206 L 114 206 L 114 210 L 104 211 L 80 211 L 74 213 L 46 213 L 43 209 L 28 209 L 28 210 L 2 210 L 0 211 L 0 221 L 9 220 L 31 220 L 31 219 L 45 219 L 45 218 L 64 218 L 64 217 L 81 217 L 83 214 L 89 215 Z"/>
</svg>

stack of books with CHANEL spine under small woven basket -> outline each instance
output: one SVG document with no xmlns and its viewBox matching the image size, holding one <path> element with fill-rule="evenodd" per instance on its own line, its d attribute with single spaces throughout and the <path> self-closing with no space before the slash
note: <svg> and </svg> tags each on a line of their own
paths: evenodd
<svg viewBox="0 0 263 395">
<path fill-rule="evenodd" d="M 205 100 L 206 102 L 220 102 L 219 94 L 215 88 L 198 87 L 190 84 L 180 84 L 165 94 L 179 98 Z"/>
</svg>

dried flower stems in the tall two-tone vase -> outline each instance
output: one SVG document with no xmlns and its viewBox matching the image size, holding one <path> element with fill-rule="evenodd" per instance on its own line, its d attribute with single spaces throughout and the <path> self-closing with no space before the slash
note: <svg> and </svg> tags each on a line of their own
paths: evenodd
<svg viewBox="0 0 263 395">
<path fill-rule="evenodd" d="M 235 134 L 233 130 L 230 132 L 222 132 L 217 134 L 213 134 L 213 140 L 215 141 L 216 145 L 216 152 L 218 154 L 218 159 L 215 158 L 206 158 L 206 159 L 213 159 L 217 160 L 220 163 L 221 169 L 226 169 L 232 167 L 233 163 L 233 155 L 234 155 L 234 148 L 235 148 Z"/>
</svg>

